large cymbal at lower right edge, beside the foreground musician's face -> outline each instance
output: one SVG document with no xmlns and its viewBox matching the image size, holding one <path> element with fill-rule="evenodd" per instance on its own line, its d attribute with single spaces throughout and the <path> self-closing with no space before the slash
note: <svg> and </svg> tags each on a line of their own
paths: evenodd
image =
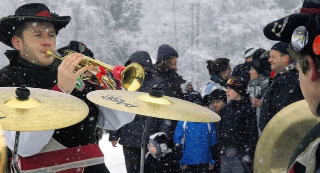
<svg viewBox="0 0 320 173">
<path fill-rule="evenodd" d="M 254 154 L 254 173 L 286 173 L 291 155 L 320 119 L 313 116 L 305 100 L 279 111 L 265 126 Z"/>
</svg>

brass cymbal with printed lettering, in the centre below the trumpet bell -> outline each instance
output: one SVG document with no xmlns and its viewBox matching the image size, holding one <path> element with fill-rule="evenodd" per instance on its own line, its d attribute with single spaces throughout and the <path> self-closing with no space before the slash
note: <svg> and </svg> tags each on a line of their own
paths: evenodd
<svg viewBox="0 0 320 173">
<path fill-rule="evenodd" d="M 138 91 L 96 90 L 86 97 L 100 106 L 149 117 L 190 122 L 220 121 L 220 117 L 207 108 L 168 96 L 153 97 Z"/>
</svg>

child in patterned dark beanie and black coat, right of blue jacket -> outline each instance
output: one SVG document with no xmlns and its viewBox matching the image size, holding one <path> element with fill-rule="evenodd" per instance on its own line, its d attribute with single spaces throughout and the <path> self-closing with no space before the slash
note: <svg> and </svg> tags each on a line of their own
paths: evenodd
<svg viewBox="0 0 320 173">
<path fill-rule="evenodd" d="M 226 83 L 226 97 L 230 102 L 219 114 L 221 173 L 249 173 L 253 169 L 258 134 L 246 88 L 247 83 L 240 76 L 231 76 Z"/>
</svg>

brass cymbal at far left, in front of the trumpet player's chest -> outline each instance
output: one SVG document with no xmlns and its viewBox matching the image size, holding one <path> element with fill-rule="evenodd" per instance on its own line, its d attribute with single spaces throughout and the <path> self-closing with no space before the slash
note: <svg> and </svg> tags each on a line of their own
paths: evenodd
<svg viewBox="0 0 320 173">
<path fill-rule="evenodd" d="M 30 96 L 20 99 L 17 87 L 0 87 L 0 125 L 8 131 L 45 131 L 74 125 L 89 112 L 80 99 L 58 91 L 28 88 Z"/>
</svg>

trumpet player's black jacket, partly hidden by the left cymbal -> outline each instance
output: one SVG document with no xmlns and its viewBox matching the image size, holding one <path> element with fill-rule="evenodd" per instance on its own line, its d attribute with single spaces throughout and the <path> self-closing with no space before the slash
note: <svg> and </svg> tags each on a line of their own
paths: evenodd
<svg viewBox="0 0 320 173">
<path fill-rule="evenodd" d="M 60 60 L 56 59 L 51 65 L 43 67 L 21 58 L 16 50 L 7 50 L 4 54 L 10 64 L 0 70 L 1 87 L 21 87 L 21 84 L 25 84 L 26 87 L 51 89 L 57 83 L 57 67 Z M 95 86 L 88 82 L 85 84 L 86 87 L 82 92 L 74 89 L 71 95 L 88 105 L 88 116 L 75 125 L 55 130 L 52 136 L 67 148 L 96 143 L 95 127 L 98 109 L 86 98 L 86 94 L 93 91 Z"/>
</svg>

